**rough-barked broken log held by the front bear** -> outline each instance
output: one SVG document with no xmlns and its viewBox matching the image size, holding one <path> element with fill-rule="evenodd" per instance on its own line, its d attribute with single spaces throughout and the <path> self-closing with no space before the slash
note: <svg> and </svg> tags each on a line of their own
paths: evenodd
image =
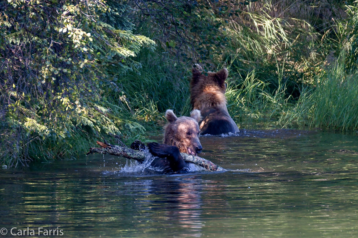
<svg viewBox="0 0 358 238">
<path fill-rule="evenodd" d="M 144 151 L 132 150 L 128 147 L 111 145 L 100 141 L 97 141 L 97 144 L 100 145 L 102 148 L 89 148 L 89 152 L 87 153 L 87 155 L 92 153 L 102 153 L 105 155 L 123 156 L 127 159 L 135 159 L 140 162 L 143 162 L 145 160 Z M 188 155 L 187 153 L 180 154 L 182 155 L 185 162 L 197 164 L 208 171 L 226 171 L 226 169 L 223 169 L 222 167 L 214 164 L 213 162 L 201 158 L 199 156 Z"/>
</svg>

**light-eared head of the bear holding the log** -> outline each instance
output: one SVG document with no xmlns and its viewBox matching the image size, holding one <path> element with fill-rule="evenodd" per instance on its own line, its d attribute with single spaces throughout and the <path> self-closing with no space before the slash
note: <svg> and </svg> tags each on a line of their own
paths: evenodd
<svg viewBox="0 0 358 238">
<path fill-rule="evenodd" d="M 176 146 L 182 153 L 196 155 L 203 149 L 199 140 L 199 125 L 201 115 L 199 110 L 193 110 L 190 117 L 176 117 L 173 110 L 166 110 L 165 118 L 168 124 L 164 128 L 163 143 Z"/>
</svg>

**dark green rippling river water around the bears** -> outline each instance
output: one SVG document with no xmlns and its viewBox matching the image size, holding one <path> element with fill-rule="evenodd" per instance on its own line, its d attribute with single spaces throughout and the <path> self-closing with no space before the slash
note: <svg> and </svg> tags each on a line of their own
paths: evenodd
<svg viewBox="0 0 358 238">
<path fill-rule="evenodd" d="M 200 137 L 222 173 L 114 172 L 126 160 L 102 155 L 1 169 L 0 237 L 357 237 L 358 136 L 286 132 Z"/>
</svg>

